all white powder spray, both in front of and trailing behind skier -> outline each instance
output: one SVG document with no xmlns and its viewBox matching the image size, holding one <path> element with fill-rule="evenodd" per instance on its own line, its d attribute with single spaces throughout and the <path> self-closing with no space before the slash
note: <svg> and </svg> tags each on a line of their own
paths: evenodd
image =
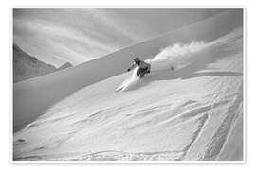
<svg viewBox="0 0 256 170">
<path fill-rule="evenodd" d="M 236 28 L 226 36 L 212 42 L 193 41 L 190 43 L 174 43 L 160 50 L 153 59 L 145 59 L 151 65 L 151 75 L 155 72 L 171 71 L 181 69 L 190 65 L 192 62 L 206 62 L 210 59 L 209 52 L 219 46 L 235 41 L 242 36 L 242 28 Z M 134 69 L 133 75 L 125 79 L 116 91 L 125 91 L 135 86 L 139 82 L 137 77 L 138 68 Z M 149 75 L 148 75 L 149 76 Z"/>
</svg>

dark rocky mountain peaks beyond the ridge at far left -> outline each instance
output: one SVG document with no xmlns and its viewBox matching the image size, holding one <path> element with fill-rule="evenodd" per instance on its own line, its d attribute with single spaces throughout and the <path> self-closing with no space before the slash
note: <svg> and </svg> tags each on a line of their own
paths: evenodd
<svg viewBox="0 0 256 170">
<path fill-rule="evenodd" d="M 69 62 L 66 62 L 59 68 L 51 64 L 29 56 L 24 52 L 17 44 L 13 44 L 13 82 L 24 81 L 29 78 L 43 76 L 53 73 L 55 71 L 68 68 L 72 66 Z"/>
</svg>

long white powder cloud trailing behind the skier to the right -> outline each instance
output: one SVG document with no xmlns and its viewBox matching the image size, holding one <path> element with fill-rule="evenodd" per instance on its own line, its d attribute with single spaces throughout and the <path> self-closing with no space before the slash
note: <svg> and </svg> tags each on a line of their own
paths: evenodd
<svg viewBox="0 0 256 170">
<path fill-rule="evenodd" d="M 198 58 L 200 54 L 214 50 L 221 45 L 233 42 L 242 37 L 243 30 L 241 27 L 232 30 L 226 36 L 218 38 L 212 42 L 193 41 L 191 43 L 174 43 L 160 50 L 153 59 L 145 61 L 151 64 L 151 71 L 169 70 L 170 65 L 179 69 Z M 203 58 L 208 58 L 204 56 Z"/>
</svg>

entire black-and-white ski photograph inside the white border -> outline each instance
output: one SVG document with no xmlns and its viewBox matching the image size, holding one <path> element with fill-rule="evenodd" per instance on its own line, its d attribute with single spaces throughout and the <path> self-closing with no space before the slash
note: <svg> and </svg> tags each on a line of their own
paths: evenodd
<svg viewBox="0 0 256 170">
<path fill-rule="evenodd" d="M 13 162 L 245 161 L 244 8 L 12 8 Z"/>
</svg>

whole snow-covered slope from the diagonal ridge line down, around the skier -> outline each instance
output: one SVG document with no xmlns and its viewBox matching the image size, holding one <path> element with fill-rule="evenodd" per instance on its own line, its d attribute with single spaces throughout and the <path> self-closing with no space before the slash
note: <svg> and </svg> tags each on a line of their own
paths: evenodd
<svg viewBox="0 0 256 170">
<path fill-rule="evenodd" d="M 16 83 L 13 160 L 243 161 L 242 18 L 241 10 L 225 12 Z M 192 42 L 205 45 L 186 52 Z M 120 73 L 134 55 L 178 56 L 172 60 L 177 70 L 145 76 L 116 93 L 132 75 Z"/>
</svg>

